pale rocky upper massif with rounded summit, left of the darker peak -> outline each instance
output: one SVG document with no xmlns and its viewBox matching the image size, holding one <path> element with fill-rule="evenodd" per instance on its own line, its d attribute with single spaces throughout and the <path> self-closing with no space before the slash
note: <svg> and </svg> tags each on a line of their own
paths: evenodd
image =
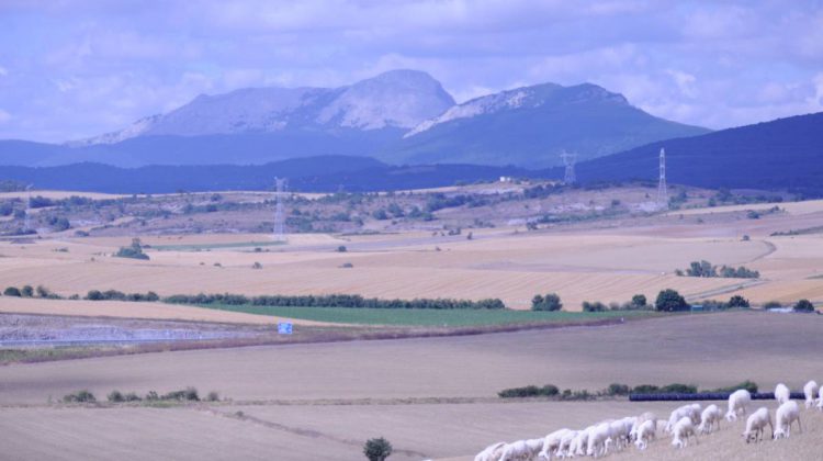
<svg viewBox="0 0 823 461">
<path fill-rule="evenodd" d="M 201 94 L 167 114 L 70 145 L 113 144 L 137 136 L 406 131 L 452 105 L 452 97 L 428 74 L 392 70 L 341 88 L 246 88 Z"/>
</svg>

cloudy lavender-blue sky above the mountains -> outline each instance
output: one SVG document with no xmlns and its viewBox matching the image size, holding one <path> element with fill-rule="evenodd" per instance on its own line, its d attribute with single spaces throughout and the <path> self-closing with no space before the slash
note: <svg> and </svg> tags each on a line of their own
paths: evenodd
<svg viewBox="0 0 823 461">
<path fill-rule="evenodd" d="M 244 87 L 428 71 L 458 102 L 593 82 L 710 128 L 823 111 L 823 0 L 0 0 L 0 138 Z"/>
</svg>

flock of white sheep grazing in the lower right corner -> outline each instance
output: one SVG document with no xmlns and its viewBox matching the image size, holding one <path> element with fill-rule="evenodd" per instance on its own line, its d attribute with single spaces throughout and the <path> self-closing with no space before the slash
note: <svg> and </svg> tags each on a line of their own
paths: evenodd
<svg viewBox="0 0 823 461">
<path fill-rule="evenodd" d="M 816 406 L 823 412 L 823 386 L 816 382 L 809 381 L 803 386 L 805 395 L 805 407 Z M 815 400 L 816 394 L 816 400 Z M 752 413 L 746 419 L 746 429 L 743 438 L 746 443 L 759 441 L 764 438 L 766 426 L 771 428 L 771 438 L 789 438 L 791 426 L 797 421 L 800 426 L 800 408 L 797 402 L 791 400 L 789 387 L 778 384 L 775 389 L 775 400 L 780 405 L 775 412 L 776 426 L 773 425 L 771 414 L 766 407 L 760 407 Z M 742 415 L 746 415 L 752 394 L 746 390 L 739 390 L 729 395 L 729 409 L 725 418 L 735 421 Z M 526 461 L 545 460 L 552 457 L 574 458 L 576 456 L 589 456 L 599 458 L 608 454 L 609 450 L 623 450 L 634 443 L 639 450 L 645 450 L 651 440 L 656 439 L 659 426 L 663 432 L 672 436 L 672 445 L 676 448 L 685 448 L 689 440 L 697 441 L 698 434 L 710 434 L 720 429 L 720 419 L 723 417 L 720 408 L 711 404 L 702 408 L 700 404 L 687 404 L 676 408 L 669 415 L 668 420 L 658 420 L 653 413 L 643 413 L 640 416 L 630 416 L 621 419 L 607 419 L 594 424 L 582 430 L 560 429 L 542 439 L 518 440 L 515 442 L 498 442 L 486 447 L 474 457 L 474 461 Z"/>
</svg>

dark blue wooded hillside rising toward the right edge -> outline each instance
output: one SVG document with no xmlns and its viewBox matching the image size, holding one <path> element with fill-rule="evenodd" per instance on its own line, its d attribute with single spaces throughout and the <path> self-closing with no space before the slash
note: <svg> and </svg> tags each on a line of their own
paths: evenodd
<svg viewBox="0 0 823 461">
<path fill-rule="evenodd" d="M 577 177 L 656 181 L 661 148 L 670 183 L 823 195 L 823 112 L 652 143 L 580 164 Z"/>
</svg>

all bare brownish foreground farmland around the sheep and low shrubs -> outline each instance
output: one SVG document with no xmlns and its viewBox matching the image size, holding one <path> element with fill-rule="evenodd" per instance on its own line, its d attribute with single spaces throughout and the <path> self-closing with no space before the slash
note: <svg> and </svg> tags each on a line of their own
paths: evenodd
<svg viewBox="0 0 823 461">
<path fill-rule="evenodd" d="M 398 450 L 392 459 L 462 460 L 494 441 L 644 411 L 665 416 L 677 406 L 501 403 L 495 396 L 501 389 L 554 383 L 594 391 L 611 382 L 714 387 L 751 379 L 765 390 L 777 382 L 798 390 L 809 379 L 823 381 L 813 346 L 821 335 L 820 316 L 753 312 L 613 327 L 15 364 L 0 368 L 0 431 L 9 437 L 4 452 L 13 459 L 136 460 L 154 453 L 359 460 L 365 439 L 385 436 Z M 185 385 L 203 394 L 217 391 L 229 401 L 172 408 L 47 403 L 78 389 L 103 398 L 113 389 L 143 394 Z M 676 451 L 662 439 L 636 459 L 717 459 L 715 453 L 733 460 L 814 459 L 808 456 L 819 452 L 823 414 L 804 412 L 803 418 L 805 432 L 788 441 L 746 446 L 739 436 L 743 423 L 724 421 L 722 431 L 701 438 L 699 447 Z M 613 458 L 635 459 L 631 453 Z"/>
</svg>

